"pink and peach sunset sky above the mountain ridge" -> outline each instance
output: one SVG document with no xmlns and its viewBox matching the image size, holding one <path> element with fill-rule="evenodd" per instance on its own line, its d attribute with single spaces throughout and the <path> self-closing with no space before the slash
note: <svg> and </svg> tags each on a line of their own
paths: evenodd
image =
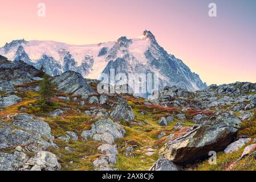
<svg viewBox="0 0 256 182">
<path fill-rule="evenodd" d="M 208 16 L 210 2 L 217 18 Z M 255 0 L 1 0 L 0 7 L 0 47 L 22 38 L 100 43 L 147 29 L 207 84 L 256 82 Z"/>
</svg>

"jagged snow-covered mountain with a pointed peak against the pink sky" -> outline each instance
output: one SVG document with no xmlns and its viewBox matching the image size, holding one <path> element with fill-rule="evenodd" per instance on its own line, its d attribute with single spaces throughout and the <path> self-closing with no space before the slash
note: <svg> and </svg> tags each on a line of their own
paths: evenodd
<svg viewBox="0 0 256 182">
<path fill-rule="evenodd" d="M 100 73 L 157 73 L 160 88 L 176 85 L 186 90 L 204 89 L 206 84 L 180 60 L 159 46 L 150 31 L 116 42 L 74 46 L 53 41 L 13 40 L 0 48 L 9 60 L 23 60 L 41 68 L 49 75 L 76 71 L 87 78 L 99 78 Z"/>
</svg>

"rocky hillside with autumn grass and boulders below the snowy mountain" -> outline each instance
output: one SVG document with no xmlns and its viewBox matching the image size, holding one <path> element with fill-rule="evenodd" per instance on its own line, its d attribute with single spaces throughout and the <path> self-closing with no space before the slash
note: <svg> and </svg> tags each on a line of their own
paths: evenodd
<svg viewBox="0 0 256 182">
<path fill-rule="evenodd" d="M 44 73 L 0 58 L 0 170 L 255 170 L 256 84 L 166 86 L 146 100 L 67 71 L 44 105 Z"/>
</svg>

